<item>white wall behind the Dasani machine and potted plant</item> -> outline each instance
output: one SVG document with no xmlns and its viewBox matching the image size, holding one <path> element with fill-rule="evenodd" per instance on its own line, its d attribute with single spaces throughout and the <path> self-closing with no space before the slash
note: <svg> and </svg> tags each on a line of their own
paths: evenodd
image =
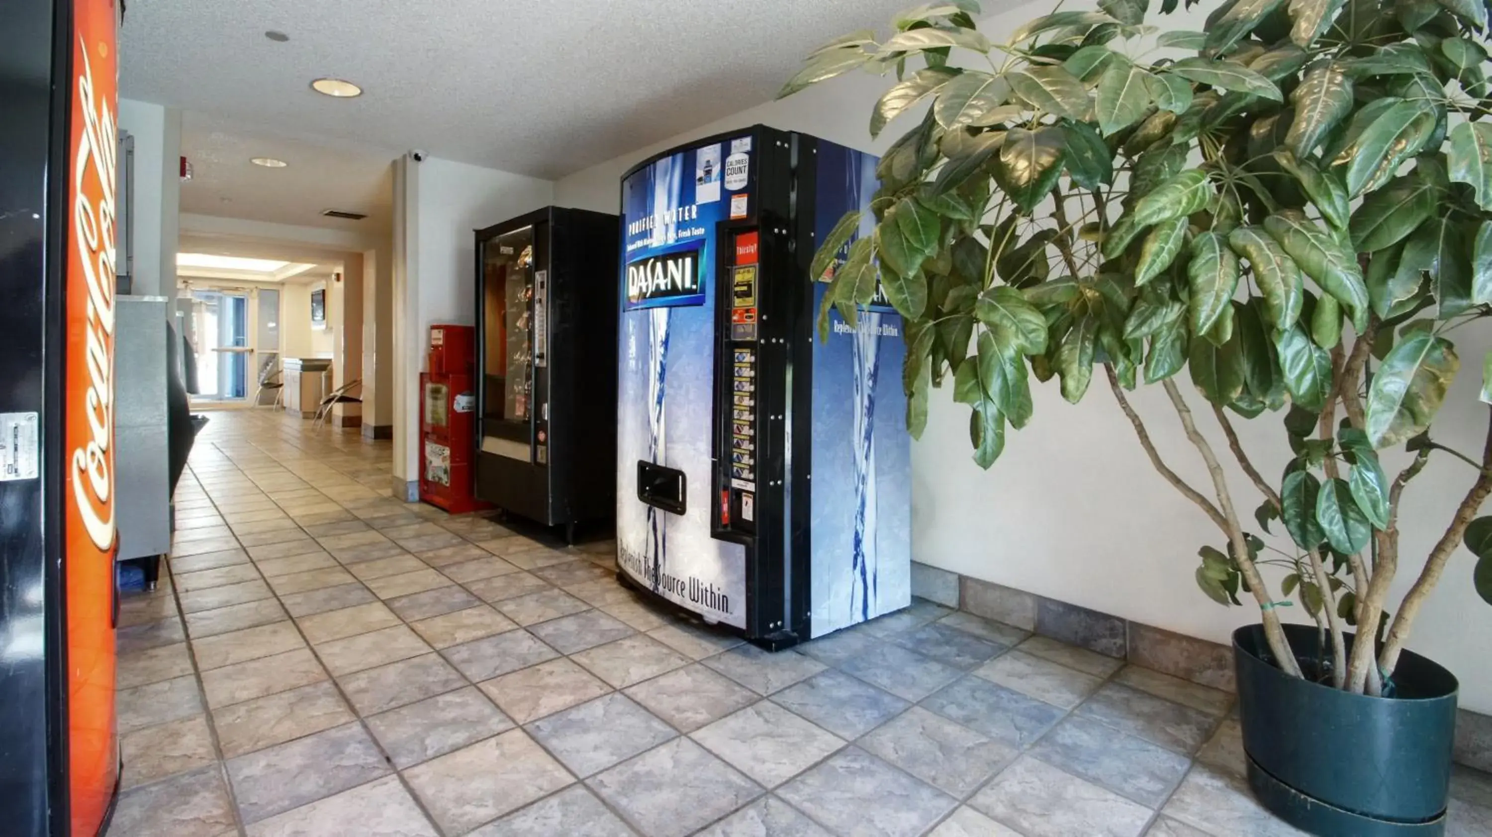
<svg viewBox="0 0 1492 837">
<path fill-rule="evenodd" d="M 986 19 L 982 30 L 998 40 L 1050 9 L 1052 3 L 1018 7 Z M 1152 15 L 1149 22 L 1200 30 L 1200 12 Z M 745 110 L 564 178 L 555 184 L 555 203 L 616 212 L 618 179 L 637 160 L 755 122 L 883 151 L 916 118 L 903 116 L 877 143 L 870 142 L 870 110 L 889 84 L 853 75 Z M 1464 369 L 1435 431 L 1437 440 L 1471 455 L 1482 449 L 1488 421 L 1488 407 L 1477 403 L 1477 361 L 1492 346 L 1492 334 L 1485 327 L 1474 328 L 1480 331 L 1462 328 L 1455 334 Z M 1217 437 L 1206 401 L 1189 386 L 1185 389 L 1194 395 L 1203 427 Z M 1206 488 L 1206 470 L 1182 436 L 1164 392 L 1147 388 L 1131 400 L 1171 467 Z M 1265 474 L 1279 474 L 1289 458 L 1279 422 L 1280 416 L 1273 413 L 1234 422 Z M 1226 457 L 1225 446 L 1219 446 L 1219 455 Z M 1385 457 L 1385 467 L 1402 467 L 1402 457 Z M 1153 471 L 1101 374 L 1077 406 L 1061 398 L 1055 380 L 1038 386 L 1035 418 L 1025 430 L 1007 436 L 1004 457 L 989 471 L 971 460 L 968 409 L 952 403 L 949 388 L 934 391 L 927 433 L 913 445 L 912 470 L 918 561 L 1216 642 L 1228 642 L 1232 628 L 1258 621 L 1255 607 L 1225 609 L 1197 589 L 1192 570 L 1198 546 L 1220 548 L 1223 539 Z M 1229 476 L 1240 515 L 1252 519 L 1259 498 L 1237 468 Z M 1399 515 L 1402 555 L 1397 595 L 1411 583 L 1425 552 L 1474 477 L 1468 465 L 1437 457 L 1407 489 Z M 1458 551 L 1429 607 L 1420 612 L 1410 648 L 1461 677 L 1464 707 L 1492 712 L 1492 668 L 1486 665 L 1492 656 L 1492 607 L 1473 591 L 1471 570 L 1473 557 Z M 1289 615 L 1304 621 L 1301 613 Z"/>
</svg>

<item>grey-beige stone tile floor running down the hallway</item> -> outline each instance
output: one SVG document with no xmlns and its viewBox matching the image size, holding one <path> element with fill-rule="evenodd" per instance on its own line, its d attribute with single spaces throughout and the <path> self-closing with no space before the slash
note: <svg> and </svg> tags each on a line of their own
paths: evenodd
<svg viewBox="0 0 1492 837">
<path fill-rule="evenodd" d="M 388 443 L 215 413 L 125 601 L 110 837 L 1295 834 L 1231 695 L 919 601 L 765 653 L 612 543 L 388 497 Z M 1459 771 L 1455 836 L 1492 834 Z"/>
</svg>

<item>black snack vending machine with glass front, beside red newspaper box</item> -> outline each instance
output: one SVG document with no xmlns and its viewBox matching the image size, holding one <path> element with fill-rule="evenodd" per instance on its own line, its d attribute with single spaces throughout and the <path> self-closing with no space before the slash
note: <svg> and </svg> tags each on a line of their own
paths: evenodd
<svg viewBox="0 0 1492 837">
<path fill-rule="evenodd" d="M 476 231 L 476 495 L 545 525 L 616 512 L 615 215 Z"/>
</svg>

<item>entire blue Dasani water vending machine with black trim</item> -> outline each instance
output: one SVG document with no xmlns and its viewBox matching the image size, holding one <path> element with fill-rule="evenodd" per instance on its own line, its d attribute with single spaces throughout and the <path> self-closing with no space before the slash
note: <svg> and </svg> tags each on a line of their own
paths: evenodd
<svg viewBox="0 0 1492 837">
<path fill-rule="evenodd" d="M 765 648 L 910 603 L 901 318 L 821 342 L 807 278 L 876 188 L 874 157 L 762 125 L 622 178 L 619 571 Z"/>
</svg>

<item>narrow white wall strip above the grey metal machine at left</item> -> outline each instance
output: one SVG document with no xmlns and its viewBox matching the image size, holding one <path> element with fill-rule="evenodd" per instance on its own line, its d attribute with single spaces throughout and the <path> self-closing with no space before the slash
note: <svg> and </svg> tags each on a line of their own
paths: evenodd
<svg viewBox="0 0 1492 837">
<path fill-rule="evenodd" d="M 134 230 L 131 291 L 136 295 L 173 297 L 181 207 L 181 110 L 121 98 L 119 130 L 134 137 L 134 194 L 128 207 Z M 121 176 L 122 166 L 121 160 Z"/>
</svg>

